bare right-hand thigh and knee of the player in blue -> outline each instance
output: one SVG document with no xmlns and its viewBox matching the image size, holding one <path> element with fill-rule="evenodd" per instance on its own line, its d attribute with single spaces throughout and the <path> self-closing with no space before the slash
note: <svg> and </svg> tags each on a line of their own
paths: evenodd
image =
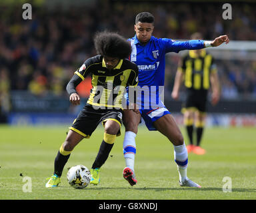
<svg viewBox="0 0 256 213">
<path fill-rule="evenodd" d="M 171 114 L 165 114 L 153 124 L 159 132 L 165 135 L 173 143 L 173 145 L 179 146 L 184 143 L 181 130 Z"/>
</svg>

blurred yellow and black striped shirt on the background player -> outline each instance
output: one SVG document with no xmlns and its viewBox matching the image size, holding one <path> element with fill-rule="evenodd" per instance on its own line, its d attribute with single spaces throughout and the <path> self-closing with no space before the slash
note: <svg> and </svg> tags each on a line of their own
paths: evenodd
<svg viewBox="0 0 256 213">
<path fill-rule="evenodd" d="M 184 73 L 184 83 L 187 89 L 208 90 L 210 87 L 210 75 L 217 72 L 213 57 L 201 50 L 200 55 L 195 51 L 189 51 L 188 55 L 183 57 L 178 71 Z"/>
</svg>

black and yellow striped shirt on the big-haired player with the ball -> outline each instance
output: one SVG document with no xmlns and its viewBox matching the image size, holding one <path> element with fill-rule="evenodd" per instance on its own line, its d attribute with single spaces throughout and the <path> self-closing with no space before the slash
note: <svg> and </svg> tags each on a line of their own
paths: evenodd
<svg viewBox="0 0 256 213">
<path fill-rule="evenodd" d="M 85 63 L 75 72 L 82 80 L 91 75 L 91 93 L 88 104 L 123 108 L 123 96 L 127 86 L 137 86 L 139 70 L 135 63 L 127 59 L 119 61 L 117 66 L 109 70 L 101 55 L 87 59 Z"/>
</svg>

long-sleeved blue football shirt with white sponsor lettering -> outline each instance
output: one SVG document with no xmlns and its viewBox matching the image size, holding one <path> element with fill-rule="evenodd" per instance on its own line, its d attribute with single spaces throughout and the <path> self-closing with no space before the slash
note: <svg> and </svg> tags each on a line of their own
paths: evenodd
<svg viewBox="0 0 256 213">
<path fill-rule="evenodd" d="M 137 36 L 128 39 L 131 42 L 130 61 L 139 68 L 139 84 L 143 95 L 137 101 L 141 101 L 141 108 L 157 108 L 163 106 L 163 86 L 165 82 L 165 54 L 179 53 L 185 49 L 203 49 L 204 41 L 174 41 L 172 39 L 151 36 L 144 45 L 139 42 Z M 147 94 L 149 92 L 149 94 Z"/>
</svg>

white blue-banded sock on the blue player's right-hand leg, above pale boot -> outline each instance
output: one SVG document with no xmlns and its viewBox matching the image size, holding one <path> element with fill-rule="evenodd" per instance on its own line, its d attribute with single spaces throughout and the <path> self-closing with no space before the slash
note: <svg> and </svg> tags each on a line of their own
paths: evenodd
<svg viewBox="0 0 256 213">
<path fill-rule="evenodd" d="M 188 154 L 185 143 L 180 146 L 174 146 L 174 159 L 179 172 L 179 181 L 184 182 L 187 179 Z"/>
</svg>

